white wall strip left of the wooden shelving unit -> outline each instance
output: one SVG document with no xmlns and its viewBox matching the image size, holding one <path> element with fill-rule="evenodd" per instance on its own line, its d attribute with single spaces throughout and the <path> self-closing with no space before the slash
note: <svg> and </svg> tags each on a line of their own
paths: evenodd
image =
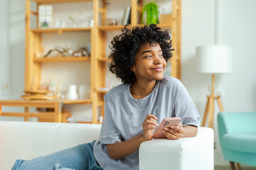
<svg viewBox="0 0 256 170">
<path fill-rule="evenodd" d="M 24 1 L 1 1 L 0 13 L 0 99 L 20 98 L 24 89 Z M 4 108 L 4 111 L 22 111 L 22 109 Z M 1 117 L 0 120 L 23 120 L 23 118 Z"/>
</svg>

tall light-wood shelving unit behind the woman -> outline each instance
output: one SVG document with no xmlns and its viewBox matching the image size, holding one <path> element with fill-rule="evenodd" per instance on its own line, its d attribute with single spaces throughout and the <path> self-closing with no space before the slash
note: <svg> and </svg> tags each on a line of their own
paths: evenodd
<svg viewBox="0 0 256 170">
<path fill-rule="evenodd" d="M 93 20 L 92 28 L 51 28 L 51 29 L 31 29 L 31 15 L 38 17 L 37 11 L 31 11 L 31 1 L 40 4 L 55 3 L 74 3 L 92 1 Z M 103 96 L 107 91 L 98 89 L 105 87 L 105 74 L 107 72 L 106 62 L 111 60 L 105 57 L 107 32 L 121 30 L 124 26 L 105 26 L 107 18 L 107 1 L 111 0 L 26 0 L 26 60 L 25 60 L 25 90 L 36 89 L 41 83 L 41 64 L 43 62 L 90 62 L 90 100 L 63 101 L 63 104 L 91 104 L 92 123 L 98 123 L 98 109 L 100 115 L 104 115 Z M 127 0 L 131 2 L 131 26 L 140 26 L 139 17 L 141 16 L 144 5 L 143 0 Z M 159 24 L 161 28 L 170 28 L 172 42 L 175 48 L 174 57 L 171 58 L 171 74 L 173 77 L 181 78 L 181 0 L 172 1 L 171 24 Z M 100 5 L 101 4 L 101 5 Z M 100 7 L 101 6 L 101 7 Z M 101 17 L 100 17 L 101 15 Z M 100 22 L 100 18 L 102 23 Z M 36 58 L 37 52 L 42 52 L 41 40 L 44 33 L 66 33 L 66 32 L 90 32 L 91 56 L 90 57 L 49 57 Z M 33 81 L 33 85 L 31 85 Z"/>
</svg>

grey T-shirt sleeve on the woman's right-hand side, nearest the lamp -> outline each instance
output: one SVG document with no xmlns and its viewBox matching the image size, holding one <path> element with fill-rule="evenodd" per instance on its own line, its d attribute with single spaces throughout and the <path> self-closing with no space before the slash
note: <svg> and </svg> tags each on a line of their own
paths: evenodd
<svg viewBox="0 0 256 170">
<path fill-rule="evenodd" d="M 174 117 L 180 117 L 183 126 L 200 125 L 200 115 L 185 86 L 178 80 L 174 104 Z"/>
</svg>

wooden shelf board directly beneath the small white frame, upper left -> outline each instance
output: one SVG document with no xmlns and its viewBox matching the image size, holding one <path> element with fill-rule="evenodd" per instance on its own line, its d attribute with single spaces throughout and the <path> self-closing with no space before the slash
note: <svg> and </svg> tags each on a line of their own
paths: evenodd
<svg viewBox="0 0 256 170">
<path fill-rule="evenodd" d="M 87 27 L 87 28 L 46 28 L 46 29 L 41 29 L 41 28 L 36 28 L 36 29 L 31 29 L 33 33 L 63 33 L 63 32 L 78 32 L 78 31 L 90 31 L 92 28 Z"/>
</svg>

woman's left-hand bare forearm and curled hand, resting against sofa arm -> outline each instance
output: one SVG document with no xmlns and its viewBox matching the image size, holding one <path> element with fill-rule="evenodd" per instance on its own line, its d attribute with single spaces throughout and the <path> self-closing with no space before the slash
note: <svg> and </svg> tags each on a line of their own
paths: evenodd
<svg viewBox="0 0 256 170">
<path fill-rule="evenodd" d="M 107 152 L 110 154 L 112 159 L 120 159 L 129 154 L 132 154 L 134 151 L 139 149 L 139 145 L 146 140 L 151 140 L 154 134 L 154 129 L 157 128 L 157 118 L 154 115 L 146 115 L 143 125 L 143 134 L 137 135 L 131 140 L 124 142 L 116 142 L 114 144 L 107 145 Z"/>
</svg>

